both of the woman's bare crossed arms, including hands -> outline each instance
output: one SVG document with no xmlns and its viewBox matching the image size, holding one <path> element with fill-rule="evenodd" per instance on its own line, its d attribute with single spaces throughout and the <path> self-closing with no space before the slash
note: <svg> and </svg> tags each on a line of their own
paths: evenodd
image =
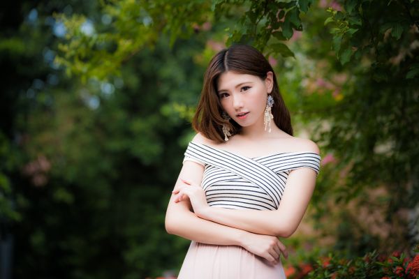
<svg viewBox="0 0 419 279">
<path fill-rule="evenodd" d="M 285 246 L 277 239 L 297 229 L 314 191 L 316 173 L 303 167 L 288 175 L 280 206 L 274 211 L 210 207 L 200 187 L 204 167 L 186 160 L 166 212 L 166 230 L 185 239 L 237 245 L 275 264 Z"/>
</svg>

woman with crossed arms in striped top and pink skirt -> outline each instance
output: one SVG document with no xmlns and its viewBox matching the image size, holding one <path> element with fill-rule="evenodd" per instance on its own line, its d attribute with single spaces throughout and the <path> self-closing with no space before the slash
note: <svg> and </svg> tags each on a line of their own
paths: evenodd
<svg viewBox="0 0 419 279">
<path fill-rule="evenodd" d="M 233 45 L 208 66 L 166 230 L 190 239 L 179 278 L 286 278 L 278 237 L 295 232 L 314 191 L 318 146 L 293 137 L 263 54 Z"/>
</svg>

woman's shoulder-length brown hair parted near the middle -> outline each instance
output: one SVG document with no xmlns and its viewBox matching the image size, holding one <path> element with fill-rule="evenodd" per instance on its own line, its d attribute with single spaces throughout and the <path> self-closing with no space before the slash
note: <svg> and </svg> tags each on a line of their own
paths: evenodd
<svg viewBox="0 0 419 279">
<path fill-rule="evenodd" d="M 240 132 L 242 126 L 236 121 L 223 119 L 223 108 L 217 92 L 217 82 L 222 73 L 232 71 L 239 74 L 256 75 L 265 80 L 267 72 L 273 73 L 274 86 L 271 96 L 274 98 L 272 114 L 277 126 L 289 135 L 293 135 L 291 116 L 286 108 L 284 99 L 279 92 L 277 77 L 272 66 L 256 48 L 249 45 L 232 45 L 221 50 L 210 61 L 205 71 L 203 90 L 201 91 L 198 107 L 192 119 L 193 129 L 205 137 L 216 142 L 224 142 L 222 125 L 227 124 L 232 135 Z"/>
</svg>

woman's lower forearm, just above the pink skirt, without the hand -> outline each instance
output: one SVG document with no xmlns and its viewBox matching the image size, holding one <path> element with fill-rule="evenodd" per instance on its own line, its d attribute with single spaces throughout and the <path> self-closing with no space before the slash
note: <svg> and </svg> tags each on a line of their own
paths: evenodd
<svg viewBox="0 0 419 279">
<path fill-rule="evenodd" d="M 242 229 L 199 218 L 191 211 L 178 211 L 175 216 L 166 216 L 166 230 L 184 239 L 214 245 L 243 246 L 244 236 L 248 234 Z"/>
</svg>

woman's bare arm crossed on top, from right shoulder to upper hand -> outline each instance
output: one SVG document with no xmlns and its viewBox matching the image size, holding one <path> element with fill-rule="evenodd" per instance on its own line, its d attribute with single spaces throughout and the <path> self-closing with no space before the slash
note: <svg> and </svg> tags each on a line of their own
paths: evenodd
<svg viewBox="0 0 419 279">
<path fill-rule="evenodd" d="M 277 210 L 234 210 L 208 206 L 205 193 L 199 186 L 187 185 L 176 189 L 179 194 L 189 196 L 193 210 L 200 218 L 244 229 L 256 234 L 291 236 L 304 216 L 316 186 L 316 172 L 307 167 L 294 169 L 288 175 L 284 194 Z"/>
</svg>

